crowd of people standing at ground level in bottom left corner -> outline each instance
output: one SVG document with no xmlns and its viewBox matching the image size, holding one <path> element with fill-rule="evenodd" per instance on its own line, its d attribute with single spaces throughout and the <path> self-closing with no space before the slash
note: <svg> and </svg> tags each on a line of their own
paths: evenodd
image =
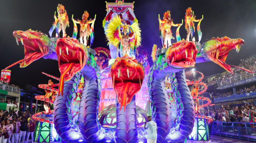
<svg viewBox="0 0 256 143">
<path fill-rule="evenodd" d="M 0 110 L 0 142 L 28 143 L 34 140 L 35 120 L 29 111 Z M 25 140 L 26 139 L 26 140 Z"/>
</svg>

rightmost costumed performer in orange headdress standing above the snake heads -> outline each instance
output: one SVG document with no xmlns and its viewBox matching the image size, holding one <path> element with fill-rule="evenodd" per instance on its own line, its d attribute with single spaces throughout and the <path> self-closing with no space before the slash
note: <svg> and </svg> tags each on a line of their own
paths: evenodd
<svg viewBox="0 0 256 143">
<path fill-rule="evenodd" d="M 196 20 L 196 16 L 194 16 L 192 9 L 188 8 L 185 14 L 185 29 L 187 30 L 187 33 L 188 33 L 187 39 L 186 39 L 187 41 L 189 41 L 190 34 L 191 36 L 193 36 L 192 33 L 194 33 L 194 30 L 195 30 L 194 22 L 199 22 L 199 21 L 200 19 Z M 194 37 L 192 41 L 195 41 Z"/>
</svg>

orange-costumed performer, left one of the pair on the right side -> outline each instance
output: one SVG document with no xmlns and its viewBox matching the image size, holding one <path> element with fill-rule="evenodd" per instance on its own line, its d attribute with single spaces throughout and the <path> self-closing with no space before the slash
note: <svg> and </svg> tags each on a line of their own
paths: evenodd
<svg viewBox="0 0 256 143">
<path fill-rule="evenodd" d="M 171 46 L 171 39 L 175 39 L 173 37 L 173 33 L 171 33 L 171 26 L 180 26 L 181 24 L 173 23 L 173 19 L 171 19 L 170 11 L 167 11 L 163 14 L 163 20 L 161 20 L 160 18 L 158 20 L 162 24 L 164 47 L 168 48 L 169 46 Z"/>
</svg>

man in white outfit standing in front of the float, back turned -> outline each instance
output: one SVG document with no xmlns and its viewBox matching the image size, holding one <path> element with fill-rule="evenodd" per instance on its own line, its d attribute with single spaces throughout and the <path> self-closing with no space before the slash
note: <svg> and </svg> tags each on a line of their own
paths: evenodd
<svg viewBox="0 0 256 143">
<path fill-rule="evenodd" d="M 156 143 L 157 139 L 157 125 L 152 120 L 151 116 L 147 117 L 148 122 L 145 122 L 144 128 L 148 130 L 147 143 Z"/>
</svg>

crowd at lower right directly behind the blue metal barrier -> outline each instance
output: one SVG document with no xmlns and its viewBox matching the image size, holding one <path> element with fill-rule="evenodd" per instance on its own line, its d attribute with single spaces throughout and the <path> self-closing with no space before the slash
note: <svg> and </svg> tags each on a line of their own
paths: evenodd
<svg viewBox="0 0 256 143">
<path fill-rule="evenodd" d="M 248 104 L 242 105 L 241 107 L 222 107 L 216 110 L 211 109 L 209 112 L 206 111 L 205 115 L 210 115 L 213 120 L 222 122 L 248 122 L 256 123 L 256 105 Z M 226 126 L 232 125 L 232 123 L 227 123 Z M 244 127 L 245 124 L 238 124 L 238 126 Z M 256 128 L 253 124 L 250 124 L 251 128 Z M 254 133 L 253 135 L 256 135 Z"/>
</svg>

